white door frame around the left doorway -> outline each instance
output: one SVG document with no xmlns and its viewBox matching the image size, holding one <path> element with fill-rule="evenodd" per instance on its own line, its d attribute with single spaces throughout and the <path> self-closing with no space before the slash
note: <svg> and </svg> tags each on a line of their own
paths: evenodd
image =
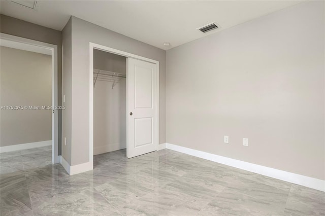
<svg viewBox="0 0 325 216">
<path fill-rule="evenodd" d="M 30 40 L 26 38 L 17 37 L 15 35 L 0 33 L 1 40 L 18 42 L 21 44 L 32 45 L 51 51 L 52 57 L 52 106 L 58 105 L 58 94 L 57 94 L 57 45 L 48 44 L 40 41 Z M 45 105 L 45 104 L 44 104 Z M 53 112 L 54 111 L 54 112 Z M 60 156 L 58 155 L 58 110 L 52 110 L 52 164 L 59 163 Z"/>
</svg>

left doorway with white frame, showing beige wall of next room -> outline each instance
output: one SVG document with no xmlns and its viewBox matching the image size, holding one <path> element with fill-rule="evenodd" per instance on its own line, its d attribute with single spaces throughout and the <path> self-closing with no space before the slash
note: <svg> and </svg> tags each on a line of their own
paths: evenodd
<svg viewBox="0 0 325 216">
<path fill-rule="evenodd" d="M 59 163 L 57 46 L 4 33 L 0 38 L 8 60 L 0 75 L 0 152 L 44 150 L 43 165 Z"/>
</svg>

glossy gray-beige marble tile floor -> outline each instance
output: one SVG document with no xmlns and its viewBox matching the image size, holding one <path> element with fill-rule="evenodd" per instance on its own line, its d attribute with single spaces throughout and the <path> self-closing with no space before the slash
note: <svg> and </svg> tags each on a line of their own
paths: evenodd
<svg viewBox="0 0 325 216">
<path fill-rule="evenodd" d="M 0 215 L 325 215 L 325 194 L 161 150 L 94 156 L 68 175 L 50 150 L 0 155 Z"/>
</svg>

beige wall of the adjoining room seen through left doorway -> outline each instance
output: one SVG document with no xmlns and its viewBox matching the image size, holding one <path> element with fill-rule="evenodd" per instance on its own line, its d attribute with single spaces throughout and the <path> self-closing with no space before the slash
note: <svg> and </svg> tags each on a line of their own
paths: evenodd
<svg viewBox="0 0 325 216">
<path fill-rule="evenodd" d="M 0 47 L 0 105 L 52 105 L 52 57 Z M 51 110 L 1 110 L 0 146 L 52 139 Z"/>
</svg>

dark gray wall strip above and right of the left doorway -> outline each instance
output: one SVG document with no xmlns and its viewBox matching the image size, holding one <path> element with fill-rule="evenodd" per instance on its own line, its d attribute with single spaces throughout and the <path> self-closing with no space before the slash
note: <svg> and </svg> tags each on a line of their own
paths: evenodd
<svg viewBox="0 0 325 216">
<path fill-rule="evenodd" d="M 62 59 L 62 40 L 61 32 L 47 28 L 34 23 L 26 22 L 13 17 L 0 15 L 0 32 L 15 35 L 22 38 L 27 38 L 35 41 L 41 41 L 48 44 L 57 45 L 57 85 L 58 85 L 58 105 L 61 105 L 61 59 Z M 61 110 L 58 110 L 58 154 L 61 154 Z"/>
</svg>

